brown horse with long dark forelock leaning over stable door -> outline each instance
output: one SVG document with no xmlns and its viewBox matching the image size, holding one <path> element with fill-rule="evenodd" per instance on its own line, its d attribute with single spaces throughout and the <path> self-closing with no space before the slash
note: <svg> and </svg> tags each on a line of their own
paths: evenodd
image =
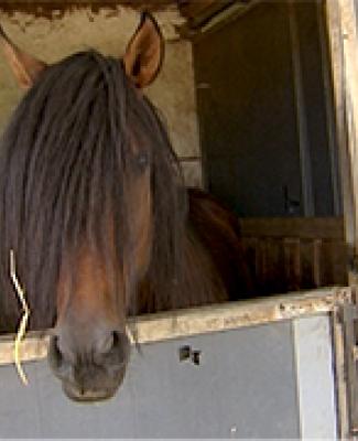
<svg viewBox="0 0 358 441">
<path fill-rule="evenodd" d="M 20 308 L 9 254 L 26 288 L 31 327 L 53 327 L 50 363 L 68 397 L 111 397 L 129 357 L 130 314 L 245 297 L 235 216 L 187 191 L 155 108 L 163 39 L 143 14 L 122 60 L 95 51 L 46 66 L 1 31 L 28 92 L 1 142 L 2 330 Z"/>
</svg>

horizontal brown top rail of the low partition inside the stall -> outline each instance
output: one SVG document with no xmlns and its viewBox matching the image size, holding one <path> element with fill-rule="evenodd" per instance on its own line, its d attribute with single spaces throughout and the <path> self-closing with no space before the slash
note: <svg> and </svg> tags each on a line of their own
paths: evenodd
<svg viewBox="0 0 358 441">
<path fill-rule="evenodd" d="M 243 237 L 344 238 L 341 217 L 242 218 L 239 224 Z"/>
</svg>

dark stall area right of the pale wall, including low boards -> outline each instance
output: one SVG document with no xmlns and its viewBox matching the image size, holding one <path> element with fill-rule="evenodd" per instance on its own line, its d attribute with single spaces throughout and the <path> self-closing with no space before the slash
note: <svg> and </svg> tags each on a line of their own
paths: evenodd
<svg viewBox="0 0 358 441">
<path fill-rule="evenodd" d="M 259 294 L 345 284 L 325 3 L 234 8 L 193 37 L 204 185 L 241 219 Z"/>
</svg>

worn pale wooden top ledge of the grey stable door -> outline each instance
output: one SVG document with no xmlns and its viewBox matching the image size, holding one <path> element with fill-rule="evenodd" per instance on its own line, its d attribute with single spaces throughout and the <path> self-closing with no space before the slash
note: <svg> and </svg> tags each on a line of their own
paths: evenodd
<svg viewBox="0 0 358 441">
<path fill-rule="evenodd" d="M 138 342 L 145 344 L 330 312 L 347 298 L 350 299 L 349 289 L 322 289 L 148 314 L 131 319 L 129 326 L 135 329 Z M 31 332 L 26 335 L 21 347 L 22 362 L 46 356 L 48 334 L 50 330 L 46 333 Z M 0 336 L 0 365 L 13 362 L 14 335 Z"/>
</svg>

